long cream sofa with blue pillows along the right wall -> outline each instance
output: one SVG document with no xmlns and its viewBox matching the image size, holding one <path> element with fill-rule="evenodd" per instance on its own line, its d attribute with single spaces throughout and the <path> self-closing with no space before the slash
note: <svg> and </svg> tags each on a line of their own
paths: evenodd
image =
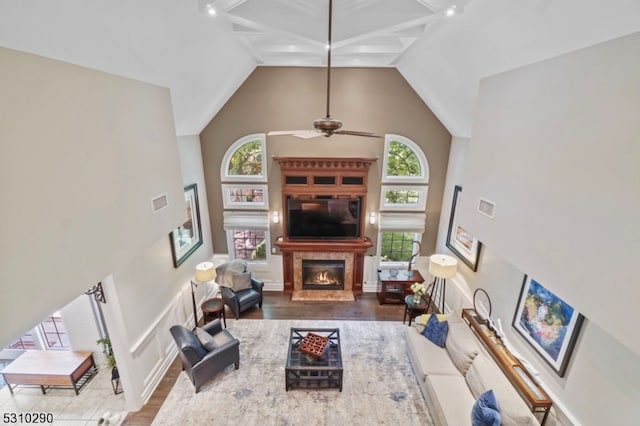
<svg viewBox="0 0 640 426">
<path fill-rule="evenodd" d="M 502 425 L 539 425 L 462 318 L 456 314 L 438 317 L 448 323 L 444 348 L 422 334 L 429 315 L 419 317 L 405 330 L 409 359 L 434 424 L 471 425 L 476 401 L 493 390 Z"/>
</svg>

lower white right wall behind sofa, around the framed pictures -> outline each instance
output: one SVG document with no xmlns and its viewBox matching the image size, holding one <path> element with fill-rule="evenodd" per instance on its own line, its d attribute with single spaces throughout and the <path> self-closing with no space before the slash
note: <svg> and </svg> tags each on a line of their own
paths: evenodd
<svg viewBox="0 0 640 426">
<path fill-rule="evenodd" d="M 471 145 L 475 141 L 471 142 Z M 453 139 L 449 156 L 449 174 L 438 233 L 437 251 L 452 254 L 445 245 L 447 222 L 453 196 L 453 187 L 463 185 L 464 170 L 461 164 L 468 162 L 468 139 Z M 455 255 L 454 255 L 455 256 Z M 584 425 L 635 425 L 640 419 L 640 357 L 615 337 L 592 321 L 585 321 L 580 338 L 565 377 L 560 378 L 533 351 L 511 327 L 524 272 L 507 259 L 498 255 L 491 245 L 485 244 L 480 253 L 477 272 L 459 263 L 455 283 L 468 293 L 476 288 L 485 289 L 493 305 L 494 319 L 502 320 L 508 341 L 540 373 L 547 390 L 553 395 L 554 405 L 563 411 L 567 424 Z M 454 291 L 447 287 L 447 303 Z M 578 288 L 569 294 L 581 292 Z M 466 304 L 465 307 L 470 307 Z M 624 316 L 617 313 L 616 316 Z"/>
</svg>

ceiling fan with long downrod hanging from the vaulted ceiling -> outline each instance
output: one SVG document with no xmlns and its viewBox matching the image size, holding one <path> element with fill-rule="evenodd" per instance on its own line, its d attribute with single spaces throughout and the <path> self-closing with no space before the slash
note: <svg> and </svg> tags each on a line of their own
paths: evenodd
<svg viewBox="0 0 640 426">
<path fill-rule="evenodd" d="M 331 21 L 333 15 L 333 0 L 329 0 L 329 37 L 327 42 L 327 115 L 324 118 L 318 118 L 313 121 L 313 130 L 282 130 L 269 132 L 269 136 L 291 135 L 301 139 L 311 139 L 317 136 L 329 137 L 331 135 L 353 135 L 365 136 L 371 138 L 382 138 L 371 132 L 360 132 L 355 130 L 340 130 L 342 121 L 331 117 L 329 105 L 331 99 Z"/>
</svg>

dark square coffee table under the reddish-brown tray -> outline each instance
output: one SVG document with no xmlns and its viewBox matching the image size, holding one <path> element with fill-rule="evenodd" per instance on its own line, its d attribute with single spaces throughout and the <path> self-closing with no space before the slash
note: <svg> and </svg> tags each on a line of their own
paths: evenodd
<svg viewBox="0 0 640 426">
<path fill-rule="evenodd" d="M 309 333 L 328 339 L 322 356 L 316 357 L 300 351 L 300 344 Z M 291 328 L 284 374 L 287 391 L 289 388 L 338 388 L 342 392 L 340 329 Z"/>
</svg>

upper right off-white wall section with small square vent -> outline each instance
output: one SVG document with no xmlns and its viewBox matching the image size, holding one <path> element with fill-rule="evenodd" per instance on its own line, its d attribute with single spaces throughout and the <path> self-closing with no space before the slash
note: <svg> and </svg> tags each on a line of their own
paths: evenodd
<svg viewBox="0 0 640 426">
<path fill-rule="evenodd" d="M 483 80 L 461 218 L 640 354 L 638 52 L 635 33 Z"/>
</svg>

